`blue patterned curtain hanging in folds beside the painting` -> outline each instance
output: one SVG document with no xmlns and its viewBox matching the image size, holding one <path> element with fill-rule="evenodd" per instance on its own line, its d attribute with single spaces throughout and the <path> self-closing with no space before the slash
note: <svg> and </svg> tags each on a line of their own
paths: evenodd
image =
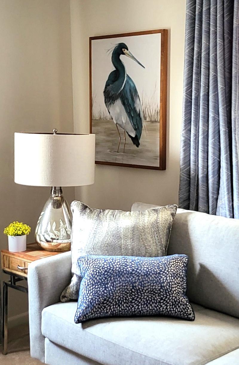
<svg viewBox="0 0 239 365">
<path fill-rule="evenodd" d="M 239 219 L 239 0 L 188 0 L 179 206 Z"/>
</svg>

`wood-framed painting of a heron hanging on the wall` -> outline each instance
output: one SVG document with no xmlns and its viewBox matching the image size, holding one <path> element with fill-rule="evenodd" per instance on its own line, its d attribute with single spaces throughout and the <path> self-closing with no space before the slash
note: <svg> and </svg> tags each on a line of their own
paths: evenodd
<svg viewBox="0 0 239 365">
<path fill-rule="evenodd" d="M 96 164 L 165 170 L 167 29 L 89 42 Z"/>
</svg>

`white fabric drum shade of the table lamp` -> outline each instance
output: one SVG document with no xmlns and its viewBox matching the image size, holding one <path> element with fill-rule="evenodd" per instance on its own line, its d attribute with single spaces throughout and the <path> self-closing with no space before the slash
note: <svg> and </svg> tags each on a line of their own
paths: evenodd
<svg viewBox="0 0 239 365">
<path fill-rule="evenodd" d="M 23 169 L 24 161 L 29 169 Z M 94 179 L 94 134 L 15 133 L 15 183 L 63 187 Z"/>
</svg>

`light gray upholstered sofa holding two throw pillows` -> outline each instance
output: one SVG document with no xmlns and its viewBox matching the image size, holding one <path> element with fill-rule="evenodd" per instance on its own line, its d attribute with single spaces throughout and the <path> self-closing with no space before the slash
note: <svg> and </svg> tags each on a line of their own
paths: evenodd
<svg viewBox="0 0 239 365">
<path fill-rule="evenodd" d="M 194 322 L 140 317 L 75 324 L 77 303 L 59 303 L 71 278 L 70 253 L 32 262 L 31 356 L 50 365 L 238 365 L 239 220 L 178 209 L 168 248 L 174 253 L 189 255 Z"/>
</svg>

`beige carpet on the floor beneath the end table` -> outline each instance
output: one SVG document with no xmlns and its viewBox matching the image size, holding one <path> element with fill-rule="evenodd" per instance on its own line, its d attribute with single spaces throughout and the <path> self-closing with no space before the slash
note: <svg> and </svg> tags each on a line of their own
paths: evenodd
<svg viewBox="0 0 239 365">
<path fill-rule="evenodd" d="M 42 362 L 30 357 L 28 325 L 10 328 L 8 330 L 8 354 L 0 351 L 1 365 L 40 365 Z"/>
</svg>

